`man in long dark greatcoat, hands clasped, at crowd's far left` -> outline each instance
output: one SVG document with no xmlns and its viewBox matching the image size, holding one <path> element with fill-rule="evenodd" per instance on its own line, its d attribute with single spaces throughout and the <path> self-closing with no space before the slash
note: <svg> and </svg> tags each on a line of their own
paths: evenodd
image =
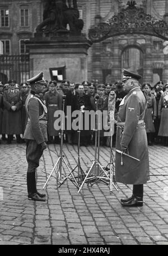
<svg viewBox="0 0 168 256">
<path fill-rule="evenodd" d="M 21 108 L 22 101 L 20 98 L 20 92 L 15 90 L 16 81 L 8 81 L 10 87 L 3 93 L 3 121 L 2 121 L 2 133 L 8 134 L 7 143 L 11 144 L 13 134 L 16 134 L 16 142 L 21 143 L 22 134 L 21 125 Z"/>
</svg>

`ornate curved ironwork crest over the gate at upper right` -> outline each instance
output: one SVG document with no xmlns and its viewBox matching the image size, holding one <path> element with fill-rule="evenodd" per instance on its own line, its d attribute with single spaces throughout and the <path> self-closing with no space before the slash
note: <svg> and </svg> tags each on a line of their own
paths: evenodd
<svg viewBox="0 0 168 256">
<path fill-rule="evenodd" d="M 119 35 L 141 34 L 156 36 L 168 40 L 168 25 L 164 20 L 156 20 L 144 12 L 142 7 L 136 7 L 136 1 L 128 1 L 128 7 L 110 20 L 101 22 L 88 31 L 88 37 L 93 42 Z"/>
</svg>

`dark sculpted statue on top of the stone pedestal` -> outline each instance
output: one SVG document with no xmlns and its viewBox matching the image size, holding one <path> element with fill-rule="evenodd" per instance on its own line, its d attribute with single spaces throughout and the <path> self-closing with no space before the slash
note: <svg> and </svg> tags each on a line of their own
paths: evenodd
<svg viewBox="0 0 168 256">
<path fill-rule="evenodd" d="M 79 19 L 77 0 L 45 0 L 43 22 L 36 27 L 36 32 L 81 31 L 83 20 Z M 67 6 L 68 2 L 68 6 Z"/>
</svg>

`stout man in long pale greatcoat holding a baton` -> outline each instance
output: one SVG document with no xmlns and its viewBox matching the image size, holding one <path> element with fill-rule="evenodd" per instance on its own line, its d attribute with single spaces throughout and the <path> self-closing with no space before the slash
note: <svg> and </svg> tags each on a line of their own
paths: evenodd
<svg viewBox="0 0 168 256">
<path fill-rule="evenodd" d="M 150 179 L 144 126 L 146 98 L 139 79 L 138 74 L 123 70 L 123 90 L 127 95 L 119 105 L 116 123 L 115 178 L 120 183 L 133 184 L 132 196 L 121 199 L 122 206 L 128 207 L 143 206 L 143 184 Z"/>
</svg>

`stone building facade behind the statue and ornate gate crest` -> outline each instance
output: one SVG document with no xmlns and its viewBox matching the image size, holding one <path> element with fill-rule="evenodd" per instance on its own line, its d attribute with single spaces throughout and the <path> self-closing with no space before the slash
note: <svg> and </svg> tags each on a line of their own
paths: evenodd
<svg viewBox="0 0 168 256">
<path fill-rule="evenodd" d="M 82 33 L 86 38 L 91 27 L 107 22 L 128 7 L 127 0 L 77 2 L 80 17 L 84 21 Z M 136 7 L 143 8 L 144 13 L 168 23 L 167 0 L 136 2 Z M 43 20 L 43 6 L 43 0 L 0 0 L 0 40 L 4 54 L 29 54 L 25 41 L 34 36 L 36 26 Z M 165 47 L 164 39 L 142 34 L 123 34 L 94 43 L 88 50 L 87 80 L 113 83 L 121 79 L 122 68 L 128 68 L 143 76 L 141 82 L 147 81 L 152 85 L 160 80 L 165 82 L 168 80 L 168 55 L 165 54 Z M 1 69 L 0 80 L 3 75 Z"/>
</svg>

